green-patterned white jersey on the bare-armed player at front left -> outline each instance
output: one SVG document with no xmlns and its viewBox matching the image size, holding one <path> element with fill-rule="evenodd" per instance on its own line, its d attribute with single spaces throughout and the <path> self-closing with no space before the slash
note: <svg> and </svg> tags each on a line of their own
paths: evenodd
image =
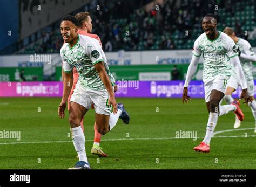
<svg viewBox="0 0 256 187">
<path fill-rule="evenodd" d="M 78 34 L 77 43 L 72 48 L 68 43 L 64 43 L 60 49 L 60 56 L 64 72 L 72 72 L 73 67 L 76 68 L 79 74 L 77 84 L 94 90 L 105 89 L 95 68 L 97 63 L 103 61 L 111 84 L 115 85 L 114 77 L 107 66 L 106 56 L 96 39 Z"/>
</svg>

